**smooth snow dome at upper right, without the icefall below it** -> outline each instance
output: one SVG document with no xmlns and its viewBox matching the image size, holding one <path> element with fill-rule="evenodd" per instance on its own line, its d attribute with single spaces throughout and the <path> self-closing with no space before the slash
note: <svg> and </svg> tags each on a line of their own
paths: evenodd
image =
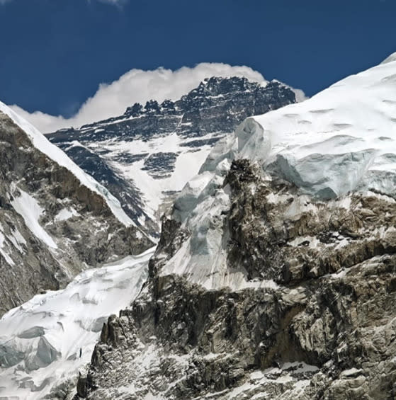
<svg viewBox="0 0 396 400">
<path fill-rule="evenodd" d="M 237 158 L 321 198 L 362 189 L 395 197 L 394 56 L 307 101 L 249 118 L 235 135 Z"/>
</svg>

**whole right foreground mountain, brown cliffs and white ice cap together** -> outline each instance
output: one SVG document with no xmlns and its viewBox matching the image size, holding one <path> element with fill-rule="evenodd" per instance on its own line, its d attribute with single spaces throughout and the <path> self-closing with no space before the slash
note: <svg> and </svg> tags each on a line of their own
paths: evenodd
<svg viewBox="0 0 396 400">
<path fill-rule="evenodd" d="M 395 396 L 395 76 L 380 64 L 215 144 L 80 397 Z"/>
</svg>

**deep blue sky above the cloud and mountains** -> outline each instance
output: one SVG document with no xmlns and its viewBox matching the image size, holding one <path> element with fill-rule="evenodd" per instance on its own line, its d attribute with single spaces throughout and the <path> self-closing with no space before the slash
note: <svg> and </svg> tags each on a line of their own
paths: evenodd
<svg viewBox="0 0 396 400">
<path fill-rule="evenodd" d="M 66 118 L 130 69 L 247 65 L 312 96 L 396 51 L 395 0 L 0 4 L 1 101 Z"/>
</svg>

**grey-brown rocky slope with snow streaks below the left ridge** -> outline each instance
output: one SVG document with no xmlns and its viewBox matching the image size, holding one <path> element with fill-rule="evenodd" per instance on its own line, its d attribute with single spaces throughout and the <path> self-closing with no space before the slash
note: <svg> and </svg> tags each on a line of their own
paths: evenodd
<svg viewBox="0 0 396 400">
<path fill-rule="evenodd" d="M 0 141 L 0 315 L 40 291 L 63 287 L 88 265 L 151 245 L 3 113 Z"/>
</svg>

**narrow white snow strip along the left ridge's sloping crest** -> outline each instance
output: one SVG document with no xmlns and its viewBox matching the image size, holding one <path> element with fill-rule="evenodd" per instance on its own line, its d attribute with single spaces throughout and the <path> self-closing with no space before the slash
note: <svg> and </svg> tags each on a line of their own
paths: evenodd
<svg viewBox="0 0 396 400">
<path fill-rule="evenodd" d="M 82 171 L 82 169 L 74 164 L 74 162 L 69 159 L 69 157 L 62 152 L 59 147 L 50 143 L 50 141 L 41 132 L 33 127 L 33 125 L 21 118 L 1 101 L 0 111 L 8 115 L 9 118 L 11 118 L 11 120 L 18 125 L 18 127 L 26 132 L 26 135 L 28 135 L 28 138 L 36 149 L 50 157 L 50 159 L 55 161 L 57 164 L 60 164 L 60 166 L 64 166 L 71 171 L 74 176 L 79 179 L 82 185 L 85 185 L 87 188 L 101 195 L 106 200 L 108 207 L 110 207 L 111 211 L 113 212 L 113 215 L 120 222 L 122 222 L 125 226 L 134 224 L 121 208 L 120 202 L 106 188 L 104 188 L 100 183 L 96 182 L 94 178 Z"/>
</svg>

